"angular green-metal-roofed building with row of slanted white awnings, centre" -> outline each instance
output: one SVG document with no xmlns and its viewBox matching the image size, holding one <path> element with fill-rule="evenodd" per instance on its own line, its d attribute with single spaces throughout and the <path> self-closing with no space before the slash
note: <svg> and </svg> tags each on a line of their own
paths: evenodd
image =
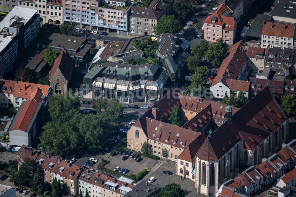
<svg viewBox="0 0 296 197">
<path fill-rule="evenodd" d="M 154 64 L 106 62 L 93 67 L 83 78 L 85 98 L 116 98 L 120 102 L 157 102 L 170 87 L 167 70 Z"/>
</svg>

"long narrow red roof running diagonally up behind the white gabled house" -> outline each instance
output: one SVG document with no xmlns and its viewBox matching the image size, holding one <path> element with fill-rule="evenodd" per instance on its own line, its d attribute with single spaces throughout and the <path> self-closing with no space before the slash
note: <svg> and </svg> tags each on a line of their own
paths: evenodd
<svg viewBox="0 0 296 197">
<path fill-rule="evenodd" d="M 246 46 L 248 46 L 247 43 L 241 40 L 230 47 L 211 86 L 216 85 L 222 79 L 237 79 L 244 62 L 247 60 Z"/>
</svg>

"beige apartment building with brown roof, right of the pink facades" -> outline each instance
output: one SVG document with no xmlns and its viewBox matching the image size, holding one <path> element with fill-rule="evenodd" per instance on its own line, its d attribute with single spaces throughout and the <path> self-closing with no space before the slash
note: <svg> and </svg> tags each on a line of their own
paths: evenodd
<svg viewBox="0 0 296 197">
<path fill-rule="evenodd" d="M 154 0 L 148 7 L 131 6 L 128 35 L 155 35 L 154 27 L 164 15 L 170 15 L 173 0 Z"/>
</svg>

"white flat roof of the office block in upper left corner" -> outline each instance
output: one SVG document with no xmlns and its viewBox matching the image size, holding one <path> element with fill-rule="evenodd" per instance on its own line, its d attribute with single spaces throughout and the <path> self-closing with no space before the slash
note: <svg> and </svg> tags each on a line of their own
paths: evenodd
<svg viewBox="0 0 296 197">
<path fill-rule="evenodd" d="M 15 6 L 0 22 L 0 53 L 9 44 L 16 34 L 7 36 L 3 34 L 4 28 L 9 28 L 14 22 L 23 22 L 24 25 L 36 14 L 38 10 Z"/>
</svg>

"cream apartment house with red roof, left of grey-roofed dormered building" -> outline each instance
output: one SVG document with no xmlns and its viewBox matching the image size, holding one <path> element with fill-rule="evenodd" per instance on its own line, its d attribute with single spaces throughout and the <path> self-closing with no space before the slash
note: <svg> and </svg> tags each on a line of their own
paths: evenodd
<svg viewBox="0 0 296 197">
<path fill-rule="evenodd" d="M 252 70 L 263 71 L 265 50 L 266 49 L 259 47 L 247 47 L 247 65 L 250 66 Z"/>
</svg>

